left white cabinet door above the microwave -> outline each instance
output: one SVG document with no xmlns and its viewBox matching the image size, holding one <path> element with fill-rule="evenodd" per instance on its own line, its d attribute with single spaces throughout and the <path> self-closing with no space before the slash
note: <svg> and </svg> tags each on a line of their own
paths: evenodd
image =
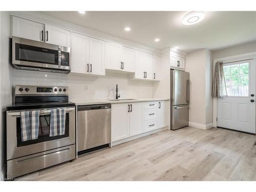
<svg viewBox="0 0 256 192">
<path fill-rule="evenodd" d="M 45 41 L 45 25 L 31 20 L 12 17 L 12 35 L 31 40 Z"/>
</svg>

